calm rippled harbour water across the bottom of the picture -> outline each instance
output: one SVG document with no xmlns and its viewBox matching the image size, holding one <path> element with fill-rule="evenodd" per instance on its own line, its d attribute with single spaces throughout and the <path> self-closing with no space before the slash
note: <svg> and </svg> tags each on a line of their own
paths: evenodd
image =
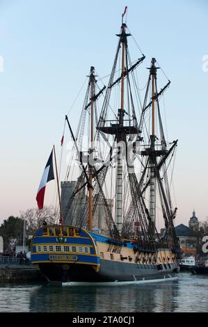
<svg viewBox="0 0 208 327">
<path fill-rule="evenodd" d="M 146 285 L 0 284 L 0 312 L 207 312 L 208 276 Z"/>
</svg>

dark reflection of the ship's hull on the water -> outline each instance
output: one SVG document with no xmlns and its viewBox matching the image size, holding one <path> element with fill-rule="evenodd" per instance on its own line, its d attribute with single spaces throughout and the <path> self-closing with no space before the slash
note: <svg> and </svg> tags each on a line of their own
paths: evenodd
<svg viewBox="0 0 208 327">
<path fill-rule="evenodd" d="M 35 312 L 174 311 L 177 281 L 127 286 L 61 287 L 43 285 L 31 293 Z M 168 298 L 168 301 L 167 301 Z M 45 301 L 44 307 L 42 306 Z"/>
</svg>

